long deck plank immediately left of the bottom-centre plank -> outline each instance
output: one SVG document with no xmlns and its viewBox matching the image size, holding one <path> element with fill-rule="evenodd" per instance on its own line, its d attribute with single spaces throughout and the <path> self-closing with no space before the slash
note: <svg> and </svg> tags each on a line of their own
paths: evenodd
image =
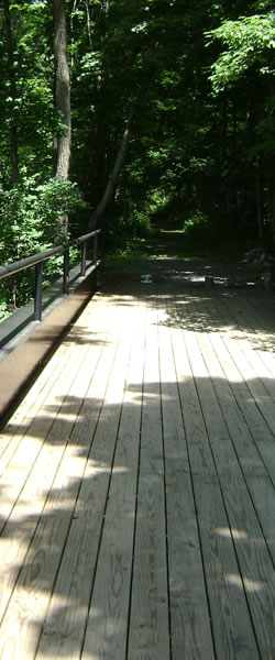
<svg viewBox="0 0 275 660">
<path fill-rule="evenodd" d="M 134 330 L 105 526 L 81 658 L 127 658 L 144 369 L 145 306 L 131 309 Z M 102 613 L 101 616 L 95 613 Z"/>
</svg>

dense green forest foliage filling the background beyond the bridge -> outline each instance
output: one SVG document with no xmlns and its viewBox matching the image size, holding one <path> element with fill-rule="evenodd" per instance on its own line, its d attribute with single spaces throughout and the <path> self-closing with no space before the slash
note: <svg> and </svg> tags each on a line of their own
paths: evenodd
<svg viewBox="0 0 275 660">
<path fill-rule="evenodd" d="M 100 220 L 109 240 L 140 235 L 154 218 L 200 245 L 221 235 L 268 237 L 272 245 L 273 2 L 64 1 L 70 184 L 53 178 L 53 136 L 66 134 L 55 98 L 58 0 L 0 8 L 1 262 L 58 242 L 65 213 L 69 234 L 86 230 L 125 127 L 120 177 Z M 26 283 L 15 288 L 21 304 Z"/>
</svg>

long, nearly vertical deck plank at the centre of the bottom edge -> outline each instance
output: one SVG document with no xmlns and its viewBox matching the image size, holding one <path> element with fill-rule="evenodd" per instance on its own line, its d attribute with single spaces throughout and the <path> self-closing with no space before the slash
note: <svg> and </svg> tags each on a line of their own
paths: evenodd
<svg viewBox="0 0 275 660">
<path fill-rule="evenodd" d="M 168 622 L 157 314 L 150 293 L 128 660 L 167 660 Z"/>
</svg>

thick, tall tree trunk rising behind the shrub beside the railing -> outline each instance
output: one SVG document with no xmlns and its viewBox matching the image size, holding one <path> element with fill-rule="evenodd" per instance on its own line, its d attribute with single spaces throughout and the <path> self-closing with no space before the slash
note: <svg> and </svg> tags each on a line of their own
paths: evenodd
<svg viewBox="0 0 275 660">
<path fill-rule="evenodd" d="M 54 0 L 54 68 L 55 89 L 54 105 L 58 119 L 62 120 L 62 130 L 54 135 L 54 175 L 58 179 L 67 180 L 70 162 L 70 88 L 69 68 L 67 57 L 67 31 L 65 0 Z M 67 235 L 68 219 L 61 219 L 62 231 Z"/>
</svg>

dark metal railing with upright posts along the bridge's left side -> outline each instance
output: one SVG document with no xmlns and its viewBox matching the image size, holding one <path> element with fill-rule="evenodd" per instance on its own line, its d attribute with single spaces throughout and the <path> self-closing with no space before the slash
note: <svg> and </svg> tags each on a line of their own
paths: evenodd
<svg viewBox="0 0 275 660">
<path fill-rule="evenodd" d="M 98 237 L 102 233 L 101 229 L 96 229 L 95 231 L 90 231 L 87 234 L 82 234 L 77 239 L 73 239 L 65 243 L 64 245 L 56 245 L 56 248 L 52 248 L 51 250 L 46 250 L 46 252 L 40 252 L 37 254 L 32 254 L 31 256 L 26 256 L 18 262 L 13 262 L 12 264 L 8 264 L 6 266 L 0 266 L 0 280 L 4 277 L 10 277 L 10 275 L 14 275 L 14 273 L 20 273 L 20 271 L 24 271 L 25 268 L 30 268 L 31 266 L 35 266 L 35 284 L 34 284 L 34 319 L 36 321 L 42 320 L 42 283 L 43 283 L 43 264 L 45 261 L 51 258 L 52 256 L 56 256 L 57 254 L 64 254 L 63 258 L 63 294 L 68 294 L 69 288 L 69 249 L 70 248 L 81 248 L 81 262 L 80 262 L 80 273 L 81 277 L 85 277 L 87 270 L 87 243 L 89 239 L 94 239 L 94 253 L 92 253 L 92 264 L 96 266 L 98 261 Z"/>
</svg>

